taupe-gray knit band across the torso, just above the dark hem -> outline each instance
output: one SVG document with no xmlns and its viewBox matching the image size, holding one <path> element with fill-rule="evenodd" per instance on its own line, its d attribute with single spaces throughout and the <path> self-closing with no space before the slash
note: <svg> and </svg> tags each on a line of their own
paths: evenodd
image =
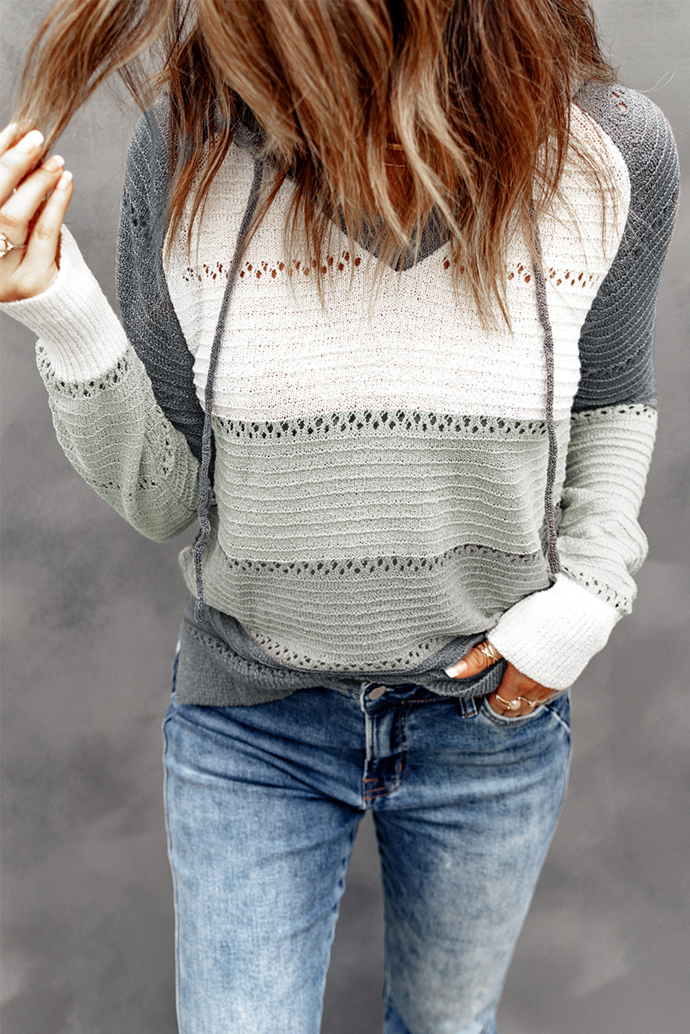
<svg viewBox="0 0 690 1034">
<path fill-rule="evenodd" d="M 193 591 L 191 550 L 180 559 Z M 247 570 L 226 556 L 212 533 L 204 561 L 207 602 L 288 664 L 407 670 L 456 636 L 490 628 L 526 592 L 548 584 L 541 553 L 515 557 L 467 547 L 421 571 L 400 562 L 363 573 L 346 562 L 328 572 L 313 565 Z"/>
</svg>

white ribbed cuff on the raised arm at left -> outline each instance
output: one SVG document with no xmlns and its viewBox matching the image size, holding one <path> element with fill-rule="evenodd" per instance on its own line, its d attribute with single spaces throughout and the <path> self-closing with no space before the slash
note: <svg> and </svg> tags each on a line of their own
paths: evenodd
<svg viewBox="0 0 690 1034">
<path fill-rule="evenodd" d="M 56 376 L 76 384 L 112 369 L 127 349 L 127 336 L 66 226 L 60 269 L 34 298 L 0 302 L 0 312 L 37 334 Z"/>
</svg>

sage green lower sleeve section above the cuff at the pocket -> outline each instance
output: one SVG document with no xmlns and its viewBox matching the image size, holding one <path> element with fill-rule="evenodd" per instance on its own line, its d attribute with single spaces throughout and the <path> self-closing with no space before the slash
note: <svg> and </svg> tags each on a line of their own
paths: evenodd
<svg viewBox="0 0 690 1034">
<path fill-rule="evenodd" d="M 559 555 L 564 573 L 630 611 L 647 539 L 637 522 L 657 427 L 652 406 L 602 406 L 571 420 Z"/>
</svg>

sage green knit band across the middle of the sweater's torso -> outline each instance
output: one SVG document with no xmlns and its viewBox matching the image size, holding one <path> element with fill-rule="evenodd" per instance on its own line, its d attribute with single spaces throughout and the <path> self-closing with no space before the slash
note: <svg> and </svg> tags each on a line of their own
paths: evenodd
<svg viewBox="0 0 690 1034">
<path fill-rule="evenodd" d="M 567 421 L 558 433 L 562 483 Z M 430 556 L 467 542 L 531 553 L 541 548 L 547 453 L 545 433 L 218 435 L 220 543 L 231 556 L 270 560 Z"/>
</svg>

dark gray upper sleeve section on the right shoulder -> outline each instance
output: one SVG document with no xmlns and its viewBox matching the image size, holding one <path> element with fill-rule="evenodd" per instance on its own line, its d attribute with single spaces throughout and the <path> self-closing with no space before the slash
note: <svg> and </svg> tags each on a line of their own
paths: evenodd
<svg viewBox="0 0 690 1034">
<path fill-rule="evenodd" d="M 635 90 L 589 83 L 575 102 L 621 151 L 630 176 L 630 209 L 580 334 L 573 413 L 613 403 L 656 405 L 654 323 L 680 181 L 673 135 L 654 101 Z"/>
</svg>

